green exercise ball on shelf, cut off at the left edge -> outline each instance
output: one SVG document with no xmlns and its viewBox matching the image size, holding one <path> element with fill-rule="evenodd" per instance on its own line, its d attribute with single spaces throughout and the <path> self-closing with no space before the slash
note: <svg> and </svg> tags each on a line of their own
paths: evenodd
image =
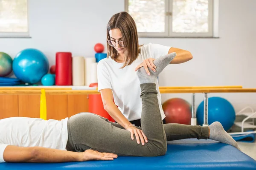
<svg viewBox="0 0 256 170">
<path fill-rule="evenodd" d="M 0 77 L 8 76 L 12 72 L 12 57 L 0 52 Z"/>
</svg>

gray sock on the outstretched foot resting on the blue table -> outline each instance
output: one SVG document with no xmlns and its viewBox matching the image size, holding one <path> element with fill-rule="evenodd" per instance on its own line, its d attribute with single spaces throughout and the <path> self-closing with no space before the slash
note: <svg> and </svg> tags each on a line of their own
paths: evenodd
<svg viewBox="0 0 256 170">
<path fill-rule="evenodd" d="M 230 144 L 240 150 L 237 142 L 232 138 L 232 136 L 230 136 L 230 134 L 228 134 L 224 130 L 220 122 L 213 122 L 211 125 L 209 125 L 209 128 L 210 128 L 209 139 Z"/>
</svg>

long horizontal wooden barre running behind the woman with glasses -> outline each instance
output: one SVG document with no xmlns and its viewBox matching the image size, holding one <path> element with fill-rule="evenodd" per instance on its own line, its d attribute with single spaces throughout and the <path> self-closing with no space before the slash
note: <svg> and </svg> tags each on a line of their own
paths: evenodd
<svg viewBox="0 0 256 170">
<path fill-rule="evenodd" d="M 46 94 L 100 94 L 97 90 L 48 90 Z M 256 88 L 189 88 L 160 89 L 160 93 L 256 93 Z M 0 94 L 41 94 L 38 90 L 0 90 Z"/>
</svg>

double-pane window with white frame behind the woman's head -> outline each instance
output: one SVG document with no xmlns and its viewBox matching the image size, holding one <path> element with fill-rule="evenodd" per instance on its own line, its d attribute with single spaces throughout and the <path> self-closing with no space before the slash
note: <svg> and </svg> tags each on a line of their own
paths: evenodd
<svg viewBox="0 0 256 170">
<path fill-rule="evenodd" d="M 139 37 L 212 37 L 213 0 L 125 0 Z"/>
</svg>

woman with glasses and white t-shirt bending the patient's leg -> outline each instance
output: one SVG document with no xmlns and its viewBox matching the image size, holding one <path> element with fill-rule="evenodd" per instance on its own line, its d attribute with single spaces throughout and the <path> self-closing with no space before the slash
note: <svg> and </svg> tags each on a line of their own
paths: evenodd
<svg viewBox="0 0 256 170">
<path fill-rule="evenodd" d="M 107 42 L 108 58 L 101 60 L 97 68 L 98 91 L 104 108 L 119 125 L 130 131 L 131 139 L 135 135 L 138 143 L 140 140 L 144 142 L 145 134 L 134 127 L 141 126 L 142 109 L 137 69 L 143 67 L 150 74 L 149 69 L 155 71 L 156 68 L 153 61 L 160 56 L 175 52 L 177 56 L 170 64 L 178 64 L 192 59 L 192 54 L 160 44 L 139 45 L 136 24 L 127 12 L 111 17 L 107 27 Z M 165 123 L 158 82 L 156 85 L 161 118 Z"/>
</svg>

